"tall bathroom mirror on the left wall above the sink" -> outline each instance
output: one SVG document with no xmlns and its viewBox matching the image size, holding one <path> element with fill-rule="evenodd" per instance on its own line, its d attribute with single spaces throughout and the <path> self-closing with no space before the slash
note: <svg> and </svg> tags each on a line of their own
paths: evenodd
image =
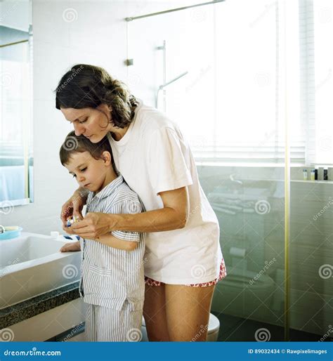
<svg viewBox="0 0 333 361">
<path fill-rule="evenodd" d="M 0 1 L 0 212 L 33 202 L 32 2 Z M 2 211 L 1 211 L 2 209 Z"/>
</svg>

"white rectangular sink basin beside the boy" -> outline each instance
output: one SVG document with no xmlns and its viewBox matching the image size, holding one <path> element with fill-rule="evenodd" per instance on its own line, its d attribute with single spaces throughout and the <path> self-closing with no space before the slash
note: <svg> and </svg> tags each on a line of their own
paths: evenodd
<svg viewBox="0 0 333 361">
<path fill-rule="evenodd" d="M 80 279 L 81 252 L 60 252 L 66 242 L 26 232 L 0 241 L 0 309 Z"/>
</svg>

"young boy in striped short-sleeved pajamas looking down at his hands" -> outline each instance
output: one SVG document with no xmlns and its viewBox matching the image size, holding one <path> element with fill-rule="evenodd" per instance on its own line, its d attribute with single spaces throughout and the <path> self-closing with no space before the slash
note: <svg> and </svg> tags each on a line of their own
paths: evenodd
<svg viewBox="0 0 333 361">
<path fill-rule="evenodd" d="M 91 143 L 68 134 L 60 161 L 89 190 L 86 213 L 141 213 L 138 195 L 112 166 L 107 137 Z M 140 341 L 143 314 L 144 234 L 114 231 L 98 239 L 65 244 L 60 251 L 81 249 L 80 296 L 87 303 L 86 341 Z"/>
</svg>

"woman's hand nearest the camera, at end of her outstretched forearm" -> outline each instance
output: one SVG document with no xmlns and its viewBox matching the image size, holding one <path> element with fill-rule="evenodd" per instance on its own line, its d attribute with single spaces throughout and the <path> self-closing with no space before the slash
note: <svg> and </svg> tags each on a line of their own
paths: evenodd
<svg viewBox="0 0 333 361">
<path fill-rule="evenodd" d="M 82 221 L 75 222 L 71 227 L 63 228 L 67 233 L 79 235 L 82 238 L 98 239 L 102 235 L 115 230 L 113 214 L 89 212 Z"/>
</svg>

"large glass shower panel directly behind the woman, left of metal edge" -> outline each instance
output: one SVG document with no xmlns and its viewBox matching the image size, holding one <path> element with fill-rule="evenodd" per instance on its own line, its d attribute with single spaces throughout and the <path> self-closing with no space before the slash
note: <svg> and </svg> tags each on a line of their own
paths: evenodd
<svg viewBox="0 0 333 361">
<path fill-rule="evenodd" d="M 131 91 L 179 124 L 221 226 L 228 276 L 217 284 L 211 308 L 221 321 L 220 341 L 284 339 L 285 129 L 277 11 L 275 3 L 233 0 L 128 25 Z M 226 145 L 233 147 L 230 156 L 226 149 L 218 155 Z M 255 151 L 261 155 L 249 159 Z M 269 166 L 262 162 L 266 154 Z"/>
</svg>

